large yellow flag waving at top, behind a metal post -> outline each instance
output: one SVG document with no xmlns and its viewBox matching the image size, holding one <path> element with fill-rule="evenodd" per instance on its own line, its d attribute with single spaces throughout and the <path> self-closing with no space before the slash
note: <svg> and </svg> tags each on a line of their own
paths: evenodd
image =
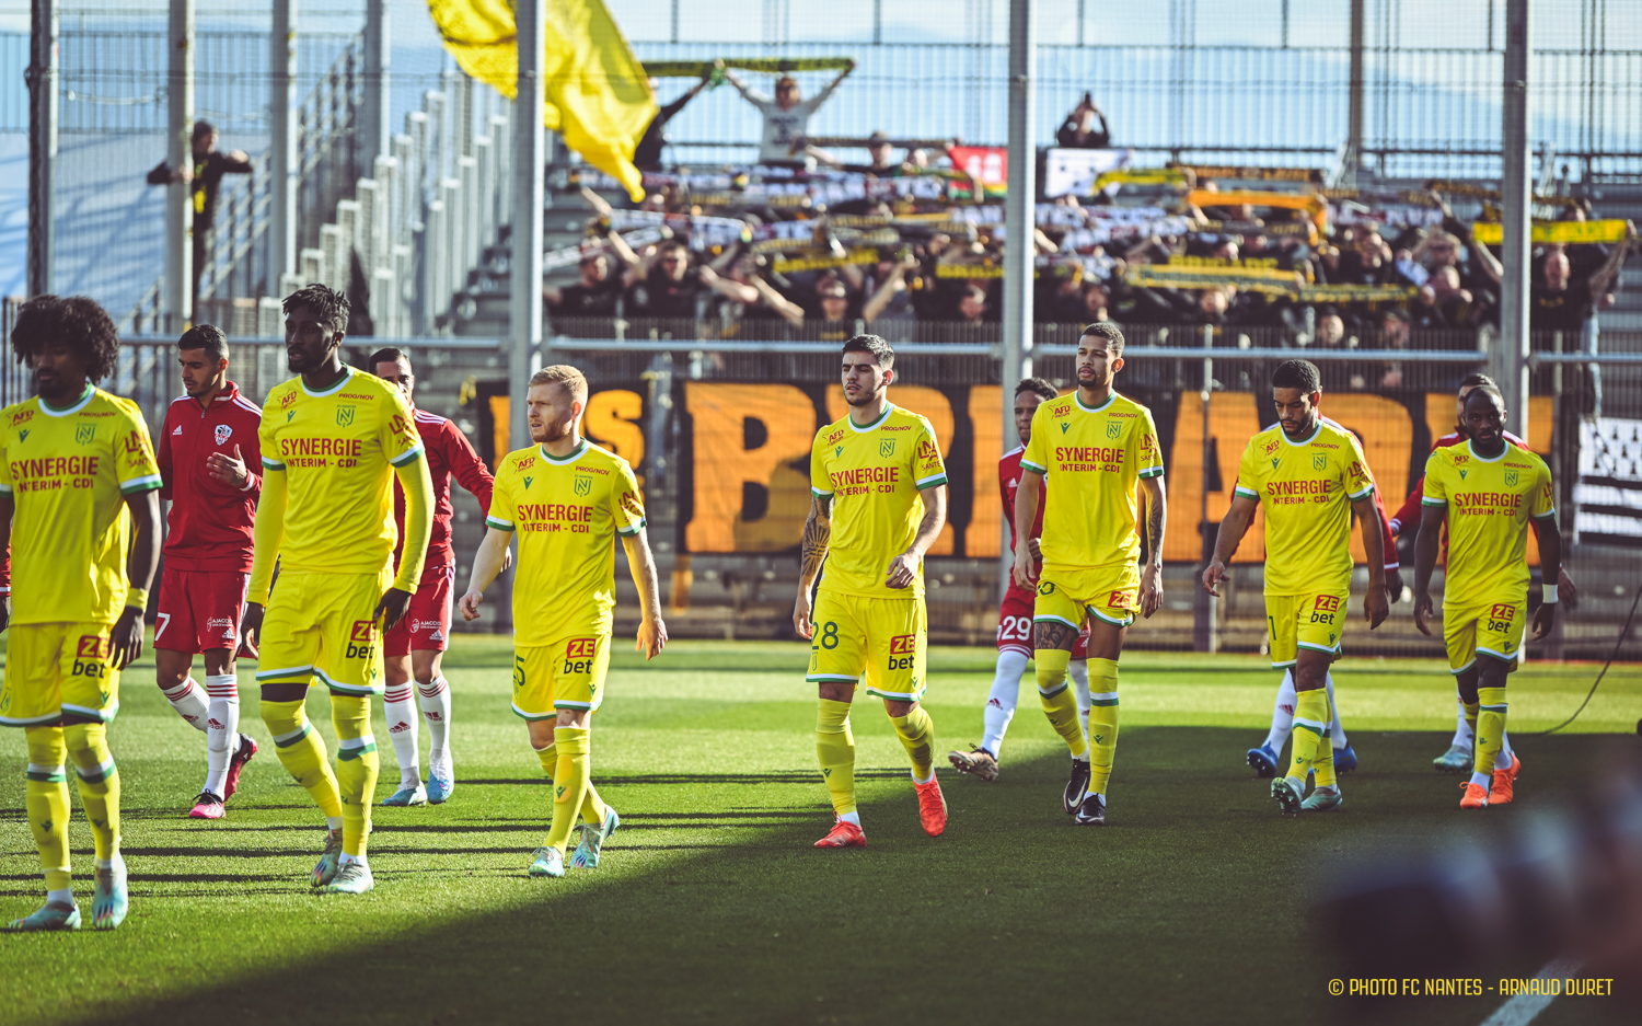
<svg viewBox="0 0 1642 1026">
<path fill-rule="evenodd" d="M 465 72 L 512 97 L 519 39 L 509 0 L 429 0 L 445 49 Z M 589 164 L 644 199 L 632 151 L 655 118 L 655 95 L 603 0 L 547 0 L 544 125 Z"/>
</svg>

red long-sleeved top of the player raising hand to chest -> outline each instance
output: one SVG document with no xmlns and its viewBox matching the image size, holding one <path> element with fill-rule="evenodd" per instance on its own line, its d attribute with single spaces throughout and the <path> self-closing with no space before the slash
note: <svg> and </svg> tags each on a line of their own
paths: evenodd
<svg viewBox="0 0 1642 1026">
<path fill-rule="evenodd" d="M 195 571 L 251 571 L 256 499 L 263 494 L 263 410 L 230 381 L 210 405 L 179 396 L 159 428 L 159 497 L 171 502 L 166 517 L 166 566 Z M 236 489 L 212 478 L 212 453 L 245 461 L 251 483 Z"/>
</svg>

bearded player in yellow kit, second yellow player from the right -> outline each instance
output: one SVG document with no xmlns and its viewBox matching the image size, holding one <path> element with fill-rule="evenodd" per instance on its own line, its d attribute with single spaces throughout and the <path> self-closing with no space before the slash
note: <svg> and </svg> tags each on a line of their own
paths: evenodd
<svg viewBox="0 0 1642 1026">
<path fill-rule="evenodd" d="M 1323 392 L 1317 366 L 1287 360 L 1271 374 L 1277 424 L 1243 450 L 1232 509 L 1220 520 L 1215 553 L 1204 570 L 1204 591 L 1227 579 L 1227 560 L 1266 511 L 1266 622 L 1271 665 L 1294 673 L 1294 744 L 1289 773 L 1271 781 L 1284 813 L 1340 808 L 1328 703 L 1328 665 L 1340 655 L 1351 593 L 1351 515 L 1368 553 L 1363 612 L 1373 630 L 1386 619 L 1386 561 L 1374 476 L 1356 435 L 1319 412 Z M 1317 788 L 1305 796 L 1315 770 Z"/>
</svg>

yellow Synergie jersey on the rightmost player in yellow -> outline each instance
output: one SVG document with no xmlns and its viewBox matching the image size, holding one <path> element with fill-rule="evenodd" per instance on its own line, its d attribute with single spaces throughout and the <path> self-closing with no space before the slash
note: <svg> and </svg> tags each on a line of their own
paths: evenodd
<svg viewBox="0 0 1642 1026">
<path fill-rule="evenodd" d="M 1514 445 L 1493 460 L 1470 442 L 1433 450 L 1420 504 L 1447 507 L 1445 606 L 1493 602 L 1527 588 L 1529 517 L 1557 515 L 1550 468 Z"/>
</svg>

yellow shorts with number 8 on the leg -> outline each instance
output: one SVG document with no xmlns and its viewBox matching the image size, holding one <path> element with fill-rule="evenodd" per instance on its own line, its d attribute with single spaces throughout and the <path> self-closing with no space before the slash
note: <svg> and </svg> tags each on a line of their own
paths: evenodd
<svg viewBox="0 0 1642 1026">
<path fill-rule="evenodd" d="M 806 681 L 867 683 L 867 694 L 903 703 L 929 686 L 923 596 L 877 599 L 823 589 L 816 596 Z"/>
</svg>

